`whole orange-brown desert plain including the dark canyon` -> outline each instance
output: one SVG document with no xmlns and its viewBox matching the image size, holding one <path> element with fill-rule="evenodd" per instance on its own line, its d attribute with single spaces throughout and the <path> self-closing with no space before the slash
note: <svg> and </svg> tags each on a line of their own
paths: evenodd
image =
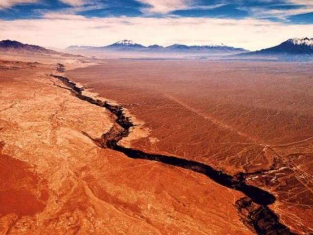
<svg viewBox="0 0 313 235">
<path fill-rule="evenodd" d="M 313 234 L 311 64 L 32 59 L 0 62 L 0 234 Z"/>
</svg>

